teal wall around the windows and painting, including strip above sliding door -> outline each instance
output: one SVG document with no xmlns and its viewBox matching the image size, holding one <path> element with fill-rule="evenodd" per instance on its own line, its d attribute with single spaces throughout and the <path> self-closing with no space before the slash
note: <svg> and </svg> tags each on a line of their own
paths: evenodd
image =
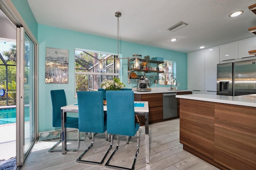
<svg viewBox="0 0 256 170">
<path fill-rule="evenodd" d="M 12 0 L 12 3 L 19 11 L 23 20 L 39 43 L 38 57 L 38 78 L 39 78 L 39 132 L 50 131 L 52 127 L 52 104 L 50 90 L 64 89 L 67 103 L 76 103 L 74 98 L 74 49 L 88 49 L 106 53 L 117 53 L 117 40 L 109 39 L 56 27 L 37 24 L 34 15 L 26 0 Z M 46 47 L 69 50 L 69 80 L 68 84 L 45 84 L 45 53 Z M 120 41 L 119 53 L 122 57 L 132 57 L 133 54 L 152 57 L 163 57 L 165 60 L 176 63 L 176 78 L 180 84 L 179 89 L 187 89 L 187 54 L 147 45 Z M 122 82 L 126 87 L 133 87 L 136 84 L 127 84 L 127 60 L 122 62 Z M 157 85 L 158 87 L 164 87 Z M 70 113 L 72 114 L 72 113 Z"/>
</svg>

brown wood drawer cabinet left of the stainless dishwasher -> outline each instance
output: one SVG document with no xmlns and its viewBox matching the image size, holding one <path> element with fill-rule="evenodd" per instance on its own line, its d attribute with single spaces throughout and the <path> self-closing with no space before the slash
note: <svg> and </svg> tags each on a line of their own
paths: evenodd
<svg viewBox="0 0 256 170">
<path fill-rule="evenodd" d="M 134 94 L 134 101 L 148 101 L 149 123 L 163 121 L 163 94 Z M 139 117 L 140 125 L 145 124 L 143 116 Z"/>
</svg>

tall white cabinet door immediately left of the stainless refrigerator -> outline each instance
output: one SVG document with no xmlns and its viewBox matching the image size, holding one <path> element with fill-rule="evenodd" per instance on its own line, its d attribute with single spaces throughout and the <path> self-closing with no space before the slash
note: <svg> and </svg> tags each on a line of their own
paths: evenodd
<svg viewBox="0 0 256 170">
<path fill-rule="evenodd" d="M 217 90 L 217 64 L 220 61 L 219 56 L 219 47 L 205 49 L 204 51 L 205 91 Z"/>
</svg>

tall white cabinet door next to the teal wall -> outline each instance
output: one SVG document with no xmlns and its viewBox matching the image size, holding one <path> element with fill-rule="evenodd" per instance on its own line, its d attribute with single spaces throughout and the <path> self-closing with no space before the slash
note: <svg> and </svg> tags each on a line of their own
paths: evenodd
<svg viewBox="0 0 256 170">
<path fill-rule="evenodd" d="M 204 50 L 188 53 L 188 90 L 204 91 Z"/>
</svg>

